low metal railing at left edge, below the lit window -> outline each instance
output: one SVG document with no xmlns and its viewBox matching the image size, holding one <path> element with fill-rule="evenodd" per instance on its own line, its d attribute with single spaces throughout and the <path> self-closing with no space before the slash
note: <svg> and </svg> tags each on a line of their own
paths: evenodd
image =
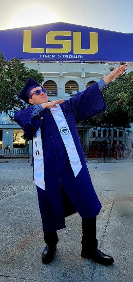
<svg viewBox="0 0 133 282">
<path fill-rule="evenodd" d="M 7 156 L 7 155 L 29 155 L 29 149 L 26 148 L 15 148 L 15 149 L 0 149 L 0 156 Z"/>
</svg>

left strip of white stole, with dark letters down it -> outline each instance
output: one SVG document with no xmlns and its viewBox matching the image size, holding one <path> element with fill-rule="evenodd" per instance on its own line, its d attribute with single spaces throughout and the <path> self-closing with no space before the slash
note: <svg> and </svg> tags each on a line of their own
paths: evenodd
<svg viewBox="0 0 133 282">
<path fill-rule="evenodd" d="M 42 148 L 41 129 L 37 130 L 33 137 L 33 157 L 34 157 L 34 184 L 45 190 L 44 180 L 44 158 Z"/>
</svg>

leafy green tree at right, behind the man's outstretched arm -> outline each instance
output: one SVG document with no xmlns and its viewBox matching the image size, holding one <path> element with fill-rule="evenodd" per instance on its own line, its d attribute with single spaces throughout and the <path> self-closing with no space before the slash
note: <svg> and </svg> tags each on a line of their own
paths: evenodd
<svg viewBox="0 0 133 282">
<path fill-rule="evenodd" d="M 113 69 L 111 68 L 110 71 Z M 107 110 L 84 121 L 93 127 L 130 127 L 133 122 L 133 71 L 120 75 L 102 90 Z"/>
</svg>

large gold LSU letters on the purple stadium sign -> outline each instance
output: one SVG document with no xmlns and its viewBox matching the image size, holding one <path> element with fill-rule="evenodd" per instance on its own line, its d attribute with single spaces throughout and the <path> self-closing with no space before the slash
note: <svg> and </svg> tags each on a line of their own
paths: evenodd
<svg viewBox="0 0 133 282">
<path fill-rule="evenodd" d="M 64 39 L 56 39 L 56 37 L 61 36 Z M 65 37 L 70 39 L 65 39 Z M 67 54 L 73 51 L 73 54 L 96 54 L 98 52 L 98 32 L 90 32 L 86 41 L 89 40 L 89 48 L 82 49 L 81 41 L 82 33 L 79 31 L 49 31 L 46 33 L 46 46 L 47 45 L 60 45 L 61 48 L 32 48 L 32 31 L 24 30 L 23 39 L 23 52 L 24 53 L 60 53 Z M 72 39 L 73 41 L 72 41 Z M 73 46 L 72 46 L 73 42 Z M 37 45 L 37 42 L 36 42 Z"/>
</svg>

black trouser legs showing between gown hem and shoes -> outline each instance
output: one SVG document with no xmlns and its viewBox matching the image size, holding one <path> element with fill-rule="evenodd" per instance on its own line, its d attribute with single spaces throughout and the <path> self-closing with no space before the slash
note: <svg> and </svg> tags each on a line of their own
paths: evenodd
<svg viewBox="0 0 133 282">
<path fill-rule="evenodd" d="M 48 245 L 56 245 L 59 241 L 56 231 L 44 232 L 44 240 Z M 96 238 L 96 217 L 89 220 L 82 219 L 82 247 L 88 250 L 94 250 L 98 247 Z"/>
</svg>

